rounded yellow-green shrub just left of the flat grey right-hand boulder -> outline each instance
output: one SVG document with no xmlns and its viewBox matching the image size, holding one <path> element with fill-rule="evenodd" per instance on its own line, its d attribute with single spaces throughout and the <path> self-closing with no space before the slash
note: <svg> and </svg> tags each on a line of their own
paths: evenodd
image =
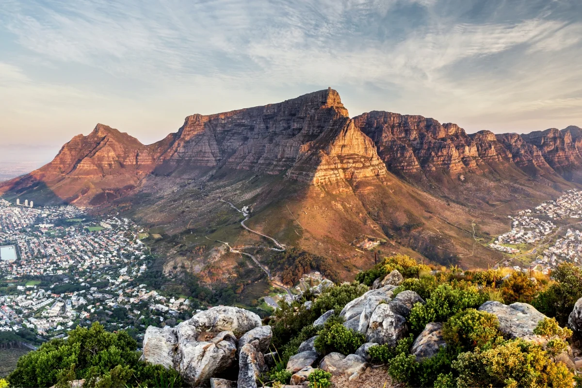
<svg viewBox="0 0 582 388">
<path fill-rule="evenodd" d="M 474 308 L 459 311 L 443 326 L 443 339 L 447 345 L 459 351 L 482 347 L 501 335 L 499 321 L 489 312 Z"/>
</svg>

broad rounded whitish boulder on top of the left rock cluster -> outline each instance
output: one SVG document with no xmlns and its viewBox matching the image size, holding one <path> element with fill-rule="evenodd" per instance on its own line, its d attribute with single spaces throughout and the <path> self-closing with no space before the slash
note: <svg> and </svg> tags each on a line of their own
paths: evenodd
<svg viewBox="0 0 582 388">
<path fill-rule="evenodd" d="M 262 325 L 261 318 L 254 312 L 232 306 L 212 307 L 198 312 L 180 325 L 194 326 L 198 332 L 222 332 L 228 330 L 237 337 Z"/>
</svg>

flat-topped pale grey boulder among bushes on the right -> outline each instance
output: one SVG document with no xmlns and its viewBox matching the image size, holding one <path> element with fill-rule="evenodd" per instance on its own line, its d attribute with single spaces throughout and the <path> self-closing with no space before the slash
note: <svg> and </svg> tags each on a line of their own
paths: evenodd
<svg viewBox="0 0 582 388">
<path fill-rule="evenodd" d="M 499 321 L 499 330 L 506 338 L 541 342 L 540 337 L 534 334 L 534 329 L 538 322 L 547 317 L 532 305 L 516 302 L 508 306 L 496 301 L 487 301 L 479 307 L 479 311 L 495 315 Z"/>
</svg>

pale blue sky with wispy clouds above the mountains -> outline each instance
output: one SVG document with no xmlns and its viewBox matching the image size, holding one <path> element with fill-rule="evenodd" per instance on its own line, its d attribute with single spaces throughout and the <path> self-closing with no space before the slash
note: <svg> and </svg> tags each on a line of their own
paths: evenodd
<svg viewBox="0 0 582 388">
<path fill-rule="evenodd" d="M 193 113 L 332 87 L 468 133 L 582 126 L 579 0 L 0 0 L 0 162 L 107 124 L 153 143 Z"/>
</svg>

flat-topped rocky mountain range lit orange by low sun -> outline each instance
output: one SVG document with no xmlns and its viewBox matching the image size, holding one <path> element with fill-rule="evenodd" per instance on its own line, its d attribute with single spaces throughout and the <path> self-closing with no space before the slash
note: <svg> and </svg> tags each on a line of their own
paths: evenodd
<svg viewBox="0 0 582 388">
<path fill-rule="evenodd" d="M 477 239 L 506 232 L 514 209 L 578 187 L 581 151 L 577 127 L 467 134 L 453 123 L 391 112 L 350 119 L 328 88 L 191 115 L 150 145 L 97 124 L 51 163 L 0 184 L 0 193 L 125 212 L 189 241 L 180 244 L 191 251 L 160 243 L 165 270 L 186 268 L 209 280 L 216 267 L 214 275 L 201 268 L 228 253 L 194 247 L 257 244 L 257 234 L 240 227 L 239 213 L 220 201 L 228 200 L 250 206 L 253 229 L 334 257 L 350 276 L 374 257 L 354 248 L 362 236 L 442 264 L 495 264 L 502 255 Z"/>
</svg>

